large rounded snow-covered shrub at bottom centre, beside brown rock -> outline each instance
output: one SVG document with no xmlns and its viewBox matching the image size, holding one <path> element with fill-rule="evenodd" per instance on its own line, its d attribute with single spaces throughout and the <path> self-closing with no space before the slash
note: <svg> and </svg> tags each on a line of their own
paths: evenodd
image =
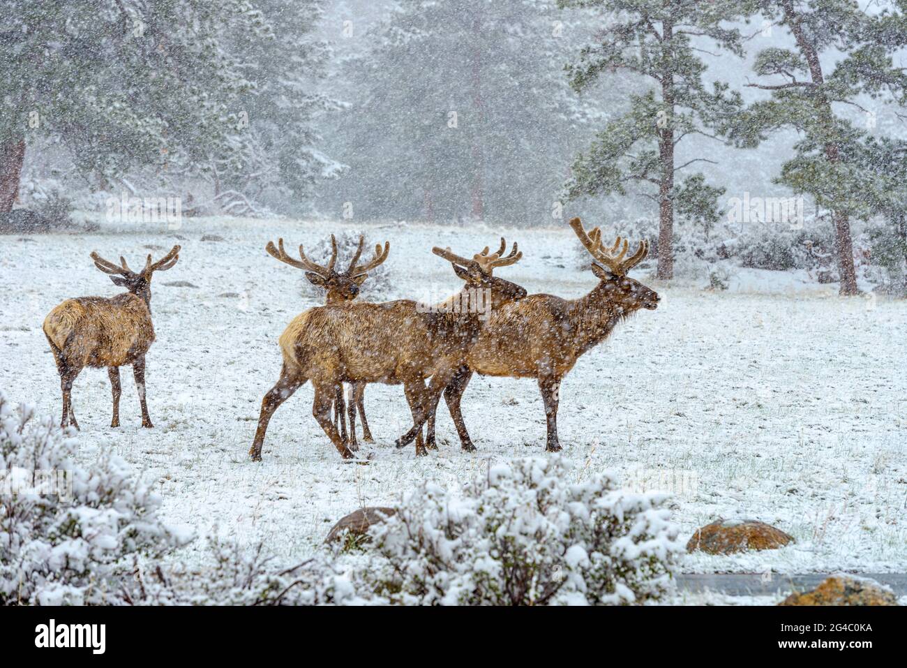
<svg viewBox="0 0 907 668">
<path fill-rule="evenodd" d="M 670 585 L 666 496 L 578 481 L 563 457 L 520 459 L 454 496 L 424 483 L 371 529 L 362 576 L 398 604 L 640 604 Z"/>
</svg>

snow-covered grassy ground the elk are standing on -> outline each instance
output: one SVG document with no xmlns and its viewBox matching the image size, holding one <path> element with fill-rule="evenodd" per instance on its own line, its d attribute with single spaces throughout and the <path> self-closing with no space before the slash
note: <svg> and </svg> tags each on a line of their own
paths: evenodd
<svg viewBox="0 0 907 668">
<path fill-rule="evenodd" d="M 426 477 L 459 485 L 490 460 L 541 456 L 534 382 L 476 377 L 463 398 L 475 454 L 460 450 L 444 409 L 438 452 L 416 459 L 411 447 L 395 449 L 410 426 L 403 391 L 369 386 L 377 442 L 360 453 L 367 466 L 345 464 L 311 417 L 306 386 L 271 421 L 264 461 L 249 461 L 259 402 L 278 377 L 278 335 L 316 305 L 301 296 L 302 272 L 270 259 L 264 245 L 278 236 L 292 248 L 312 245 L 341 227 L 194 220 L 178 230 L 130 223 L 86 236 L 0 237 L 0 388 L 58 417 L 44 315 L 68 297 L 115 293 L 90 251 L 141 264 L 146 249 L 160 255 L 179 242 L 179 264 L 152 287 L 158 340 L 148 356 L 148 397 L 156 428 L 140 427 L 128 370 L 119 429 L 109 427 L 104 371 L 84 371 L 73 391 L 80 438 L 109 444 L 157 478 L 171 522 L 264 539 L 297 563 L 358 506 L 393 505 Z M 576 269 L 569 230 L 387 225 L 369 233 L 391 241 L 390 299 L 452 293 L 459 281 L 431 246 L 465 254 L 496 245 L 500 233 L 525 251 L 502 277 L 564 297 L 595 285 L 590 271 Z M 174 281 L 193 287 L 167 285 Z M 685 536 L 724 517 L 760 519 L 796 539 L 771 552 L 688 555 L 688 572 L 907 568 L 907 303 L 842 300 L 827 286 L 775 272 L 741 272 L 729 292 L 646 282 L 662 294 L 658 310 L 620 325 L 561 388 L 561 443 L 577 475 L 608 469 L 635 486 L 668 488 Z"/>
</svg>

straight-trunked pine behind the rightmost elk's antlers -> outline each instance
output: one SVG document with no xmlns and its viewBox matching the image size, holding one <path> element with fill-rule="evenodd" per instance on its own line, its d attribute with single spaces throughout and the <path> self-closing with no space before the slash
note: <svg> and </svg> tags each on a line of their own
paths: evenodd
<svg viewBox="0 0 907 668">
<path fill-rule="evenodd" d="M 742 55 L 741 36 L 724 23 L 736 19 L 739 3 L 688 0 L 559 0 L 561 7 L 592 7 L 605 21 L 594 44 L 584 47 L 569 67 L 571 84 L 583 91 L 608 72 L 643 77 L 651 88 L 633 94 L 629 113 L 608 123 L 573 165 L 568 192 L 572 198 L 617 192 L 627 185 L 658 206 L 659 279 L 674 275 L 674 221 L 681 215 L 717 221 L 717 198 L 723 189 L 707 185 L 694 173 L 681 183 L 677 174 L 697 156 L 678 164 L 678 143 L 691 135 L 721 141 L 711 131 L 734 113 L 740 98 L 727 84 L 703 82 L 706 65 L 694 38 L 707 37 L 719 49 Z"/>
</svg>

